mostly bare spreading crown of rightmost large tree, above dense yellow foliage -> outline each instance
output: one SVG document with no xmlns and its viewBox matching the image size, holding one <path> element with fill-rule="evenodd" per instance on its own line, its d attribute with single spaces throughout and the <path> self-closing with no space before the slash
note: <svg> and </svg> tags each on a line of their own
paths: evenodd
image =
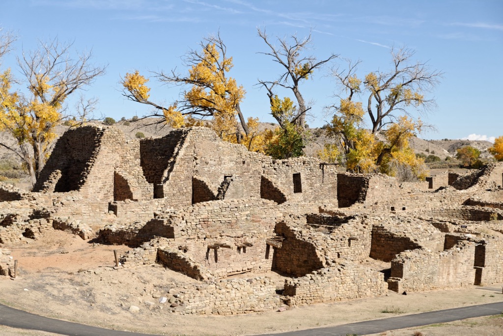
<svg viewBox="0 0 503 336">
<path fill-rule="evenodd" d="M 409 107 L 427 111 L 435 106 L 435 100 L 425 98 L 424 93 L 438 85 L 443 72 L 432 69 L 427 62 L 413 62 L 414 54 L 415 51 L 407 47 L 392 49 L 392 69 L 368 73 L 363 79 L 364 88 L 361 87 L 362 80 L 356 76 L 360 61 L 348 61 L 347 69 L 333 70 L 334 76 L 349 94 L 348 100 L 352 100 L 356 93 L 368 95 L 364 105 L 372 122 L 372 133 L 395 122 L 396 112 L 411 116 Z"/>
</svg>

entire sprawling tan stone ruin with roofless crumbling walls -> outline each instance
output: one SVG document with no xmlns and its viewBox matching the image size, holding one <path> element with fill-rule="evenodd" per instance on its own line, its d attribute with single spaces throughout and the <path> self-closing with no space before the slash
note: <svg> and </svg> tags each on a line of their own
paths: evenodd
<svg viewBox="0 0 503 336">
<path fill-rule="evenodd" d="M 32 192 L 0 185 L 0 247 L 52 229 L 128 245 L 119 268 L 158 263 L 198 280 L 170 308 L 181 314 L 486 285 L 503 282 L 502 186 L 502 163 L 398 183 L 274 160 L 207 128 L 128 140 L 85 126 L 57 141 Z"/>
</svg>

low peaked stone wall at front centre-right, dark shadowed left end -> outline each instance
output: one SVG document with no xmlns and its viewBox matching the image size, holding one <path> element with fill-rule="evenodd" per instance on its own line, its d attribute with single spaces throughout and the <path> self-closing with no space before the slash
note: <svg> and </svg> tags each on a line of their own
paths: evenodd
<svg viewBox="0 0 503 336">
<path fill-rule="evenodd" d="M 284 301 L 289 306 L 385 295 L 384 274 L 350 262 L 286 280 Z"/>
</svg>

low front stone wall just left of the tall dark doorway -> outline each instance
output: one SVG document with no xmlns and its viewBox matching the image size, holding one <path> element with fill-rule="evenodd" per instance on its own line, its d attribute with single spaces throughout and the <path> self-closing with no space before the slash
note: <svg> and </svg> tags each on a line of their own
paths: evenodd
<svg viewBox="0 0 503 336">
<path fill-rule="evenodd" d="M 389 289 L 398 293 L 471 286 L 475 281 L 475 245 L 460 241 L 446 251 L 405 251 L 391 261 Z"/>
</svg>

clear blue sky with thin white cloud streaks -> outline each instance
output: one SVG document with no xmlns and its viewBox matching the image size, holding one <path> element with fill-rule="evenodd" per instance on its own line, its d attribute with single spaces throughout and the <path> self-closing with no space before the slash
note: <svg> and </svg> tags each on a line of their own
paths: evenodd
<svg viewBox="0 0 503 336">
<path fill-rule="evenodd" d="M 121 76 L 134 69 L 145 75 L 149 70 L 183 70 L 181 56 L 218 31 L 233 57 L 229 75 L 246 90 L 241 110 L 263 122 L 275 120 L 257 79 L 273 80 L 281 69 L 258 53 L 267 46 L 257 27 L 271 38 L 303 37 L 311 30 L 311 54 L 360 59 L 361 76 L 389 69 L 390 47 L 407 45 L 415 49 L 416 60 L 444 72 L 427 96 L 436 98 L 437 107 L 422 116 L 437 131 L 425 132 L 423 138 L 503 135 L 500 0 L 2 0 L 0 26 L 18 36 L 15 50 L 3 61 L 15 75 L 20 75 L 15 56 L 33 49 L 39 39 L 57 36 L 74 41 L 76 50 L 92 49 L 94 62 L 108 67 L 86 96 L 98 98 L 98 111 L 116 120 L 151 112 L 146 105 L 124 100 Z M 334 65 L 338 62 L 345 64 L 336 60 Z M 153 79 L 149 83 L 152 100 L 167 105 L 179 98 L 180 88 L 159 86 Z M 313 102 L 313 117 L 307 120 L 311 127 L 331 119 L 323 107 L 336 101 L 333 95 L 339 89 L 328 71 L 314 73 L 301 92 Z"/>
</svg>

